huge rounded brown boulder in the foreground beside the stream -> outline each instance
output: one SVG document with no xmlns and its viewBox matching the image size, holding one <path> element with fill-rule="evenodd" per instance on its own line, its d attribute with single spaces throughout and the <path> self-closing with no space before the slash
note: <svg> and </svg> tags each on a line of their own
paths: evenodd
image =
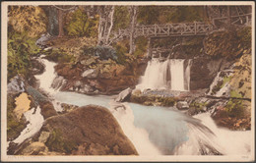
<svg viewBox="0 0 256 163">
<path fill-rule="evenodd" d="M 40 130 L 49 132 L 45 145 L 65 154 L 137 155 L 131 141 L 108 109 L 96 105 L 80 107 L 48 118 Z M 36 137 L 33 137 L 36 140 Z"/>
</svg>

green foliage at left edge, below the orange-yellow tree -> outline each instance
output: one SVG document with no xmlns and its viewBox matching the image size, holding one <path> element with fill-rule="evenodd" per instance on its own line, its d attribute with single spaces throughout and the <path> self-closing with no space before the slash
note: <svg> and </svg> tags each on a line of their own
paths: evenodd
<svg viewBox="0 0 256 163">
<path fill-rule="evenodd" d="M 26 32 L 8 32 L 8 80 L 17 74 L 27 77 L 31 57 L 40 51 L 35 40 L 36 38 L 28 37 Z"/>
</svg>

